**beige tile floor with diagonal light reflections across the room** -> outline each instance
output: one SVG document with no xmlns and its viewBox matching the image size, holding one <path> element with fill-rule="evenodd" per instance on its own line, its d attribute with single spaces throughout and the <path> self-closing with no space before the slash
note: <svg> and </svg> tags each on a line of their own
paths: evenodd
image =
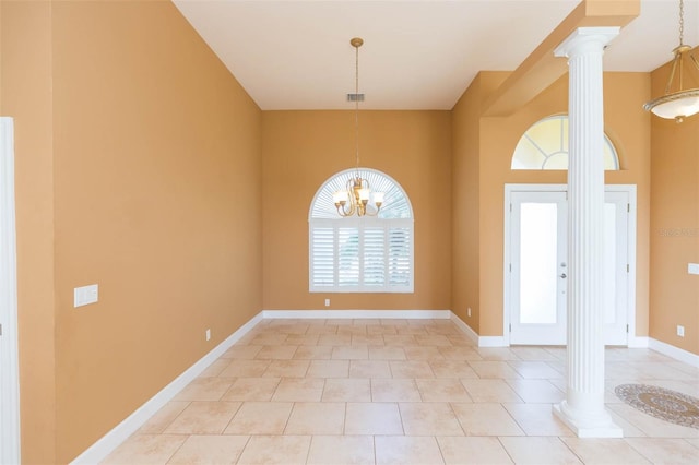
<svg viewBox="0 0 699 465">
<path fill-rule="evenodd" d="M 264 320 L 104 463 L 699 463 L 699 430 L 614 395 L 638 382 L 699 397 L 699 370 L 608 348 L 624 439 L 579 439 L 552 414 L 565 356 L 478 348 L 449 320 Z"/>
</svg>

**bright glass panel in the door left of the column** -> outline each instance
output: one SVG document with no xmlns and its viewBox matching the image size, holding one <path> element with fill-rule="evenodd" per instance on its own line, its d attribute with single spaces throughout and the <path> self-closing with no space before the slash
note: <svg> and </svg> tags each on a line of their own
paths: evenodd
<svg viewBox="0 0 699 465">
<path fill-rule="evenodd" d="M 558 205 L 521 204 L 520 323 L 555 324 Z"/>
</svg>

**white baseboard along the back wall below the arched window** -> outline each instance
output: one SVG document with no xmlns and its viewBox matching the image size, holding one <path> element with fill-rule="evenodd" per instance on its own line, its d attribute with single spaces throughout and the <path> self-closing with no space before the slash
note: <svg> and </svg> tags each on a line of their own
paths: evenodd
<svg viewBox="0 0 699 465">
<path fill-rule="evenodd" d="M 451 310 L 263 310 L 264 318 L 279 319 L 405 319 L 448 320 Z"/>
</svg>

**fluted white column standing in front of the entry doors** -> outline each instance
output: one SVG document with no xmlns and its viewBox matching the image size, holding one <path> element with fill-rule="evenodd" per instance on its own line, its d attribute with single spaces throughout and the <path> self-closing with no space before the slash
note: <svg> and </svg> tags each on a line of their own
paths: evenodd
<svg viewBox="0 0 699 465">
<path fill-rule="evenodd" d="M 604 408 L 602 56 L 618 27 L 581 27 L 568 57 L 568 390 L 555 414 L 580 438 L 620 438 Z"/>
</svg>

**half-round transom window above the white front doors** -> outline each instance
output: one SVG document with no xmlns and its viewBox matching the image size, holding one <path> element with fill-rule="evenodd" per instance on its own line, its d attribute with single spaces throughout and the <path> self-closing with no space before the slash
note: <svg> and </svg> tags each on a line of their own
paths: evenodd
<svg viewBox="0 0 699 465">
<path fill-rule="evenodd" d="M 604 134 L 604 169 L 619 169 L 614 144 Z M 517 143 L 512 169 L 568 169 L 568 115 L 544 118 L 532 124 Z"/>
</svg>

